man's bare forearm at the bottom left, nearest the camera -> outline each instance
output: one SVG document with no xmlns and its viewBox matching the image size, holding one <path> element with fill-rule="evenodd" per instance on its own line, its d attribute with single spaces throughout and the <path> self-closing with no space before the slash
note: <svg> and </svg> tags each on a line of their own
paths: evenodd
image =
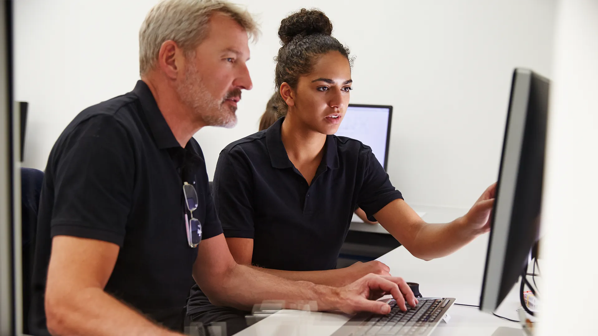
<svg viewBox="0 0 598 336">
<path fill-rule="evenodd" d="M 53 335 L 181 335 L 155 325 L 100 288 L 47 295 L 45 308 Z"/>
</svg>

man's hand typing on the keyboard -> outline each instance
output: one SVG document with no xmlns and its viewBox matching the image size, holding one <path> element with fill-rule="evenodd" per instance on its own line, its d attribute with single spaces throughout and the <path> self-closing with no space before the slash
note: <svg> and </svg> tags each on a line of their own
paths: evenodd
<svg viewBox="0 0 598 336">
<path fill-rule="evenodd" d="M 396 305 L 403 311 L 407 310 L 405 300 L 411 307 L 417 304 L 411 288 L 400 277 L 368 274 L 350 285 L 338 288 L 337 294 L 338 302 L 335 306 L 338 310 L 348 314 L 357 311 L 370 311 L 376 314 L 390 313 L 388 304 L 375 301 L 387 294 L 392 294 Z"/>
</svg>

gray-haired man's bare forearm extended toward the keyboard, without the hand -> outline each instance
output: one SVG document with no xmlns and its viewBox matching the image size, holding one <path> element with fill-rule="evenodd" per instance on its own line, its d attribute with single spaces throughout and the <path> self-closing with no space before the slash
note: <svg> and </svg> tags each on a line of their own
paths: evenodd
<svg viewBox="0 0 598 336">
<path fill-rule="evenodd" d="M 285 301 L 285 308 L 300 308 L 315 304 L 316 310 L 338 307 L 337 290 L 331 286 L 307 281 L 293 281 L 274 276 L 244 265 L 231 267 L 221 284 L 202 284 L 200 287 L 217 306 L 251 310 L 254 304 L 266 300 Z M 215 290 L 215 285 L 219 289 Z M 251 288 L 251 290 L 246 290 Z"/>
</svg>

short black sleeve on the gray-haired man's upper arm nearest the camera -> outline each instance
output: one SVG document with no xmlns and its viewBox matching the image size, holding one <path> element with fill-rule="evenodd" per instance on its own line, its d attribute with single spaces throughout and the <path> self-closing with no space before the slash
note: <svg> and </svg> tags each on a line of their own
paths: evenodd
<svg viewBox="0 0 598 336">
<path fill-rule="evenodd" d="M 122 246 L 135 176 L 124 127 L 112 115 L 96 115 L 75 126 L 56 150 L 51 237 Z"/>
</svg>

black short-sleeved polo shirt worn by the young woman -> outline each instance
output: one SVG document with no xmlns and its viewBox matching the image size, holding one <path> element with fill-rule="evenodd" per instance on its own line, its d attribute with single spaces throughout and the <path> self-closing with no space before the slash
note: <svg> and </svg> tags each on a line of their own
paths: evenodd
<svg viewBox="0 0 598 336">
<path fill-rule="evenodd" d="M 253 264 L 331 270 L 356 207 L 372 216 L 402 196 L 369 146 L 334 135 L 327 136 L 308 185 L 286 154 L 283 120 L 222 150 L 213 182 L 216 211 L 226 237 L 254 240 Z M 206 302 L 196 289 L 188 313 Z"/>
</svg>

